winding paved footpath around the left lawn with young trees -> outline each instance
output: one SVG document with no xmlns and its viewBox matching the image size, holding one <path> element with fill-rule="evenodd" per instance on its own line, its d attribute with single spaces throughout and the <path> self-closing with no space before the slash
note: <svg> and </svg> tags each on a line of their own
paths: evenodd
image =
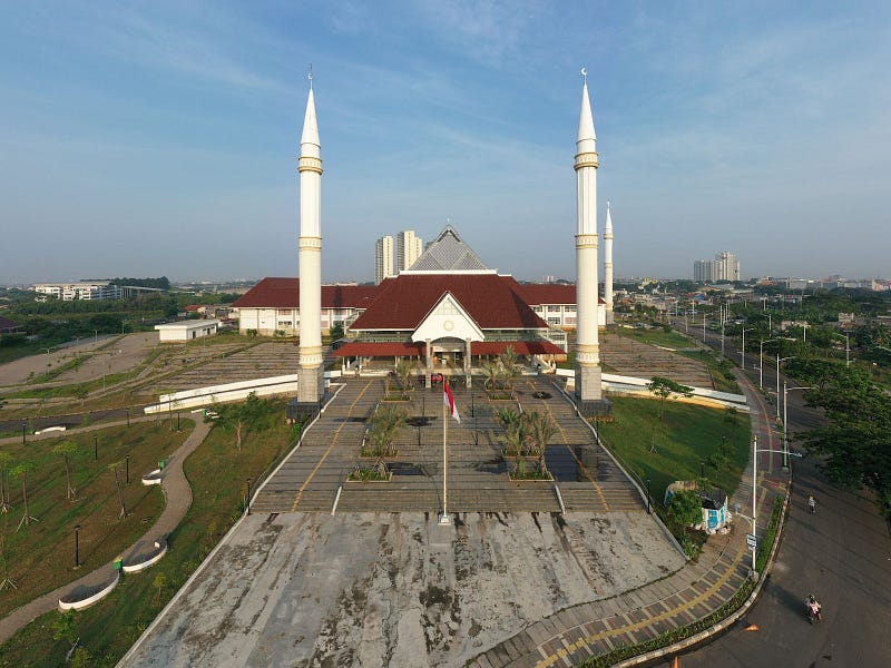
<svg viewBox="0 0 891 668">
<path fill-rule="evenodd" d="M 141 418 L 140 420 L 154 420 L 154 418 Z M 92 425 L 85 429 L 70 430 L 79 431 L 95 431 L 97 429 L 107 429 L 109 426 L 123 425 L 125 422 L 114 422 L 110 424 Z M 170 532 L 176 529 L 179 522 L 186 514 L 189 505 L 192 505 L 192 488 L 186 480 L 183 472 L 183 462 L 192 452 L 202 444 L 205 436 L 210 431 L 210 425 L 204 422 L 196 421 L 195 429 L 188 435 L 186 441 L 179 449 L 174 452 L 167 460 L 167 466 L 164 469 L 164 481 L 161 482 L 161 490 L 166 503 L 164 511 L 158 520 L 151 528 L 124 551 L 124 562 L 126 563 L 133 557 L 144 554 L 150 551 L 150 546 L 154 544 L 159 538 L 166 538 Z M 58 438 L 58 433 L 47 434 L 46 438 Z M 31 439 L 39 439 L 40 436 L 31 436 Z M 16 441 L 17 439 L 4 439 L 0 441 Z M 59 599 L 63 596 L 71 593 L 75 590 L 95 590 L 102 583 L 110 582 L 115 578 L 115 569 L 112 562 L 84 574 L 74 582 L 59 587 L 53 591 L 45 593 L 43 596 L 26 603 L 21 608 L 17 608 L 3 619 L 0 619 L 0 642 L 8 640 L 16 631 L 31 622 L 36 618 L 50 612 L 58 608 Z"/>
</svg>

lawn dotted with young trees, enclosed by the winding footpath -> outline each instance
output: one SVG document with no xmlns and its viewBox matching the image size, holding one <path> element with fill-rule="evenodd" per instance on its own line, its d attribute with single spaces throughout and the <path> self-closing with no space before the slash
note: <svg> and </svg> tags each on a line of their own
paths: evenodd
<svg viewBox="0 0 891 668">
<path fill-rule="evenodd" d="M 0 592 L 0 615 L 18 608 L 39 595 L 71 582 L 85 569 L 111 561 L 133 544 L 160 514 L 164 498 L 156 485 L 145 487 L 139 478 L 156 468 L 158 460 L 183 444 L 192 430 L 170 432 L 166 423 L 133 423 L 95 433 L 69 434 L 58 439 L 3 445 L 16 463 L 31 462 L 37 468 L 28 477 L 29 514 L 39 521 L 17 527 L 25 514 L 21 480 L 7 477 L 12 509 L 0 515 L 0 580 L 10 578 L 18 589 Z M 94 435 L 98 436 L 99 459 L 95 460 Z M 62 441 L 78 445 L 69 458 L 71 487 L 76 498 L 66 498 L 65 463 L 52 449 Z M 120 503 L 114 472 L 108 465 L 130 456 L 130 484 L 123 484 L 127 517 L 119 519 Z M 119 471 L 126 482 L 126 464 Z M 74 527 L 80 524 L 81 570 L 75 570 Z"/>
</svg>

